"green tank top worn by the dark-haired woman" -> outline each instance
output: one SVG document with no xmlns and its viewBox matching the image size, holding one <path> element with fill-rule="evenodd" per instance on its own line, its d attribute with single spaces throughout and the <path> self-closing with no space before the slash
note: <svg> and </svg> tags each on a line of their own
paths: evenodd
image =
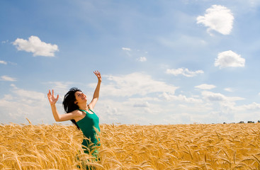
<svg viewBox="0 0 260 170">
<path fill-rule="evenodd" d="M 84 110 L 79 109 L 79 111 L 84 111 Z M 89 140 L 92 143 L 94 143 L 94 145 L 98 145 L 99 139 L 97 137 L 96 130 L 100 132 L 99 118 L 96 115 L 96 113 L 94 113 L 94 111 L 91 111 L 93 114 L 88 113 L 87 111 L 84 112 L 86 113 L 85 117 L 77 121 L 77 125 L 82 130 L 83 135 L 85 137 L 89 138 Z M 89 140 L 84 139 L 82 145 L 89 148 Z"/>
</svg>

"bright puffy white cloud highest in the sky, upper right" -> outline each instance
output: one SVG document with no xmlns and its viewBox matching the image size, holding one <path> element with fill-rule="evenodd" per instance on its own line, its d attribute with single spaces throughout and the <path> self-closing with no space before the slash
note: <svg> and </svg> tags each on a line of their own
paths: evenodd
<svg viewBox="0 0 260 170">
<path fill-rule="evenodd" d="M 215 30 L 223 35 L 230 34 L 234 16 L 229 8 L 213 5 L 205 11 L 204 16 L 198 16 L 197 23 L 202 23 L 210 30 Z"/>
</svg>

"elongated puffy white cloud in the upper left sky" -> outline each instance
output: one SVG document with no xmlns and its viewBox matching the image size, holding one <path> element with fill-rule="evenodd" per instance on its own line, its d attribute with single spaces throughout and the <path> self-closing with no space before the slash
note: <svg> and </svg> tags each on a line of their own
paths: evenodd
<svg viewBox="0 0 260 170">
<path fill-rule="evenodd" d="M 33 52 L 33 56 L 54 57 L 55 52 L 59 51 L 57 45 L 43 42 L 40 38 L 33 35 L 28 40 L 17 38 L 13 45 L 16 45 L 17 50 Z"/>
</svg>

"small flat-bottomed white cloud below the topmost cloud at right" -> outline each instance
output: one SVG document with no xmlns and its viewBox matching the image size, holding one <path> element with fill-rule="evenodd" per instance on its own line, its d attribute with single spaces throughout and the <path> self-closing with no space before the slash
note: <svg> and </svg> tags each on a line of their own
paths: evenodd
<svg viewBox="0 0 260 170">
<path fill-rule="evenodd" d="M 231 50 L 220 52 L 215 59 L 215 67 L 244 67 L 245 59 Z"/>
</svg>

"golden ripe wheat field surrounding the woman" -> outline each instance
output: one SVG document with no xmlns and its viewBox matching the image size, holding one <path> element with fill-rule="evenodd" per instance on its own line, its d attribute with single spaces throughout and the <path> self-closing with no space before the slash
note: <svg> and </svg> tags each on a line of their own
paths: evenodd
<svg viewBox="0 0 260 170">
<path fill-rule="evenodd" d="M 100 161 L 74 125 L 0 125 L 0 169 L 260 169 L 260 123 L 101 125 Z"/>
</svg>

